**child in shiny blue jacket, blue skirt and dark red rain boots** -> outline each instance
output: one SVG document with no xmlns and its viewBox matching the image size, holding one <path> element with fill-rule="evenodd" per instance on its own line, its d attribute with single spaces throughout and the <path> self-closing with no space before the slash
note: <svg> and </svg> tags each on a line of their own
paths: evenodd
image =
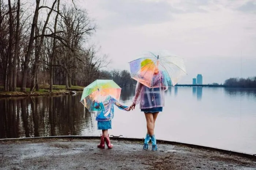
<svg viewBox="0 0 256 170">
<path fill-rule="evenodd" d="M 93 107 L 91 111 L 97 112 L 96 120 L 98 121 L 98 130 L 102 130 L 101 143 L 98 145 L 98 148 L 104 149 L 105 142 L 108 149 L 113 148 L 113 145 L 110 143 L 108 129 L 112 129 L 111 120 L 114 117 L 114 105 L 122 110 L 131 110 L 128 106 L 121 105 L 116 99 L 109 95 L 102 101 L 94 100 L 92 103 Z"/>
</svg>

